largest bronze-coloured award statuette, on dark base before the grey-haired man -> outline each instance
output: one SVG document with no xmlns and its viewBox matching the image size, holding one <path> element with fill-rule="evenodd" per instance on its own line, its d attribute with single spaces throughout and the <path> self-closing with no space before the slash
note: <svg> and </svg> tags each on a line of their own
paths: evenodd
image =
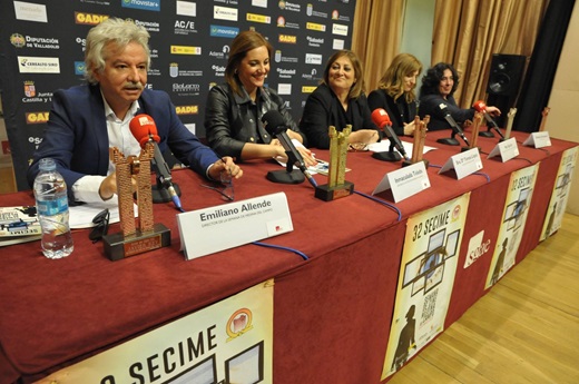
<svg viewBox="0 0 579 384">
<path fill-rule="evenodd" d="M 111 260 L 138 255 L 170 245 L 170 229 L 153 223 L 153 196 L 150 186 L 150 159 L 153 144 L 147 142 L 139 157 L 125 156 L 110 149 L 117 171 L 117 196 L 121 232 L 102 236 L 105 254 Z M 131 179 L 137 180 L 138 228 L 135 225 Z"/>
</svg>

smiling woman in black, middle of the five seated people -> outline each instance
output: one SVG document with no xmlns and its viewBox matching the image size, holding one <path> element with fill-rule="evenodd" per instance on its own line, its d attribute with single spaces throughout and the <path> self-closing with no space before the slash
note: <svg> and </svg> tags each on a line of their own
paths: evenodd
<svg viewBox="0 0 579 384">
<path fill-rule="evenodd" d="M 352 125 L 350 144 L 380 140 L 364 95 L 362 65 L 354 52 L 341 50 L 327 60 L 322 83 L 307 97 L 300 129 L 312 147 L 327 149 L 328 127 L 341 131 L 346 125 Z"/>
</svg>

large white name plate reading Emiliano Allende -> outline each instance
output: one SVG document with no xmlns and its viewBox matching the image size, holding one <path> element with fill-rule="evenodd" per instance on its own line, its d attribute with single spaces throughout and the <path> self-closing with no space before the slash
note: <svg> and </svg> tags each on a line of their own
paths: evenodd
<svg viewBox="0 0 579 384">
<path fill-rule="evenodd" d="M 294 230 L 284 193 L 178 214 L 177 224 L 188 260 Z"/>
</svg>

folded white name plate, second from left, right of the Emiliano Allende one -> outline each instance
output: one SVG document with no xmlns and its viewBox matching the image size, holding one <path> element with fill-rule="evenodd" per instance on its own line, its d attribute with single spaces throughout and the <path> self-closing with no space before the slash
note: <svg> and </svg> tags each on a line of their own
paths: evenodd
<svg viewBox="0 0 579 384">
<path fill-rule="evenodd" d="M 430 179 L 424 161 L 414 163 L 408 167 L 387 173 L 372 195 L 380 194 L 386 189 L 392 189 L 394 203 L 401 201 L 430 188 Z"/>
</svg>

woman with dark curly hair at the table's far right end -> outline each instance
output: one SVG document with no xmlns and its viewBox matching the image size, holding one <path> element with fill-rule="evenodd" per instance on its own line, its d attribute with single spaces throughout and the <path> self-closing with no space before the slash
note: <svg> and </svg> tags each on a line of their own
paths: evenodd
<svg viewBox="0 0 579 384">
<path fill-rule="evenodd" d="M 474 108 L 462 109 L 453 95 L 459 86 L 459 73 L 450 63 L 439 62 L 426 71 L 420 87 L 419 114 L 421 118 L 430 115 L 429 130 L 451 128 L 444 116 L 450 114 L 461 126 L 468 127 L 474 117 Z M 500 116 L 497 107 L 487 106 L 491 116 Z"/>
</svg>

